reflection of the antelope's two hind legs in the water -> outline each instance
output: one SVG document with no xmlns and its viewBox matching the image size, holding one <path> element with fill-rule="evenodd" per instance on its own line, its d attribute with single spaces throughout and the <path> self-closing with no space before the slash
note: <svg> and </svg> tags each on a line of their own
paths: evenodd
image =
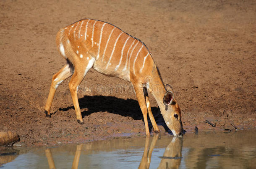
<svg viewBox="0 0 256 169">
<path fill-rule="evenodd" d="M 80 155 L 81 155 L 82 146 L 83 146 L 83 144 L 80 144 L 80 145 L 76 146 L 76 154 L 75 154 L 75 157 L 74 157 L 71 169 L 77 169 L 78 168 L 79 158 L 80 158 Z M 45 150 L 45 154 L 46 154 L 46 157 L 47 157 L 49 168 L 50 169 L 56 169 L 54 161 L 52 159 L 51 149 L 46 149 Z"/>
</svg>

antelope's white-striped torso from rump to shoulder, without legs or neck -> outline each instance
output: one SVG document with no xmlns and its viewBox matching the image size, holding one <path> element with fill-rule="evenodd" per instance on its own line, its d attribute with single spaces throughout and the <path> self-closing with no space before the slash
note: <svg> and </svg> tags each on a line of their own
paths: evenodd
<svg viewBox="0 0 256 169">
<path fill-rule="evenodd" d="M 64 58 L 76 65 L 95 59 L 93 68 L 100 73 L 130 81 L 147 76 L 154 61 L 141 40 L 109 23 L 83 19 L 57 33 L 57 46 Z"/>
</svg>

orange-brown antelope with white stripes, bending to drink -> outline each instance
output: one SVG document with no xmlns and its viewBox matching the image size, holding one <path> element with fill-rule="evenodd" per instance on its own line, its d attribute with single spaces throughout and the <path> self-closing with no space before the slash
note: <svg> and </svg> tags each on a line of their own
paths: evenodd
<svg viewBox="0 0 256 169">
<path fill-rule="evenodd" d="M 82 19 L 57 33 L 57 48 L 67 64 L 52 77 L 44 113 L 50 108 L 57 87 L 72 76 L 69 83 L 76 119 L 84 124 L 78 104 L 78 86 L 90 68 L 107 76 L 131 82 L 141 108 L 146 135 L 149 136 L 147 114 L 155 132 L 160 132 L 151 111 L 148 91 L 152 93 L 175 136 L 183 135 L 181 112 L 172 91 L 167 91 L 146 45 L 120 28 L 100 20 Z"/>
</svg>

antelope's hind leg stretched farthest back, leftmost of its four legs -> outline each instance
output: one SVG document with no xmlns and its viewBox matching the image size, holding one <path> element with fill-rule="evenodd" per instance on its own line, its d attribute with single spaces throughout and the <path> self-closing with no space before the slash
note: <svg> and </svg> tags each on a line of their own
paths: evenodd
<svg viewBox="0 0 256 169">
<path fill-rule="evenodd" d="M 55 75 L 52 76 L 52 84 L 50 88 L 50 93 L 47 98 L 47 102 L 45 105 L 45 111 L 47 117 L 51 117 L 50 109 L 52 106 L 52 100 L 55 94 L 55 91 L 59 84 L 65 79 L 69 78 L 73 74 L 73 66 L 70 64 L 66 64 L 60 71 L 58 71 Z"/>
</svg>

